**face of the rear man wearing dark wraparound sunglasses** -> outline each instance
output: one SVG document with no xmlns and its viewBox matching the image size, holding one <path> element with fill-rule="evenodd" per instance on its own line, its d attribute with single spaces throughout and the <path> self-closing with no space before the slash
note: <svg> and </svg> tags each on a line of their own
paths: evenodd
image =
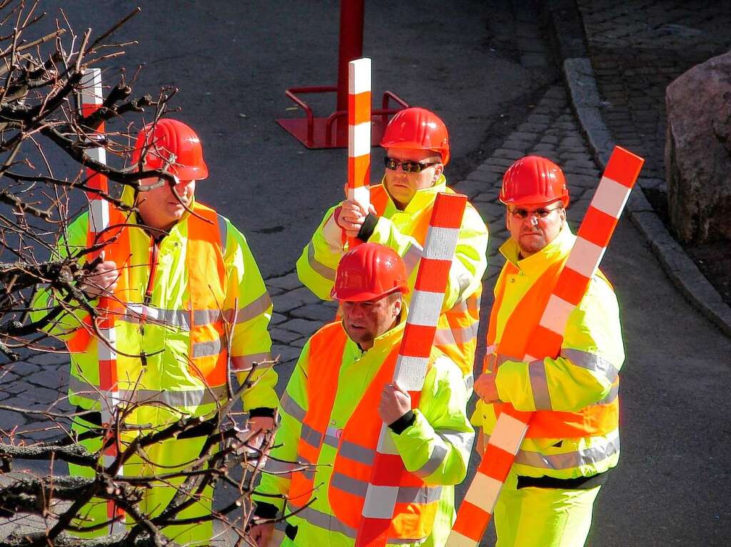
<svg viewBox="0 0 731 547">
<path fill-rule="evenodd" d="M 423 168 L 419 173 L 407 173 L 404 171 L 404 166 L 400 164 L 395 170 L 386 168 L 386 190 L 391 199 L 401 208 L 411 202 L 417 190 L 431 188 L 439 180 L 444 169 L 439 153 L 432 150 L 387 148 L 386 156 L 399 163 L 415 161 L 420 164 L 433 164 Z"/>
</svg>

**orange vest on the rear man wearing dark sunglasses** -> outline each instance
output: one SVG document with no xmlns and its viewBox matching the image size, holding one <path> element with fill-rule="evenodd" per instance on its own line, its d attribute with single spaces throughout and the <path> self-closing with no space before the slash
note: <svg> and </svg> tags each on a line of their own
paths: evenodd
<svg viewBox="0 0 731 547">
<path fill-rule="evenodd" d="M 447 192 L 454 194 L 451 188 Z M 371 204 L 377 215 L 385 213 L 390 196 L 384 185 L 371 186 Z M 429 230 L 429 220 L 434 202 L 420 211 L 419 220 L 411 237 L 423 247 Z M 463 302 L 458 302 L 439 316 L 434 345 L 445 355 L 450 357 L 462 370 L 463 375 L 472 375 L 474 367 L 474 352 L 477 350 L 477 327 L 480 324 L 480 298 L 482 284 L 477 291 L 470 294 Z M 450 332 L 451 331 L 451 332 Z"/>
</svg>

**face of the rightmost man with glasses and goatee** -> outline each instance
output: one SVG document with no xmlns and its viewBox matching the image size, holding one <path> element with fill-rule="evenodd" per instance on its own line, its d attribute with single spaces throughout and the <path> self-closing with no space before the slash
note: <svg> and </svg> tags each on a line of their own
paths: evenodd
<svg viewBox="0 0 731 547">
<path fill-rule="evenodd" d="M 507 208 L 507 229 L 523 258 L 537 253 L 555 240 L 565 221 L 566 210 L 561 207 L 561 202 L 510 205 Z"/>
</svg>

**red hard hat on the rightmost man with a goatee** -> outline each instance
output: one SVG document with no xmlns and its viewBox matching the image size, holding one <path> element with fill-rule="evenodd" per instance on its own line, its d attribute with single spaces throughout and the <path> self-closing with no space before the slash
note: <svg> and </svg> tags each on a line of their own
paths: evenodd
<svg viewBox="0 0 731 547">
<path fill-rule="evenodd" d="M 526 156 L 510 166 L 503 176 L 499 199 L 506 205 L 569 204 L 569 188 L 561 167 L 541 156 Z"/>
</svg>

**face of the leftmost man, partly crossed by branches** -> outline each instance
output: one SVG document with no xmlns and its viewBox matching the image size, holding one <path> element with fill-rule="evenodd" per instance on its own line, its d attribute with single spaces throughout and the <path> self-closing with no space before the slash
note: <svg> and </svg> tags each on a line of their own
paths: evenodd
<svg viewBox="0 0 731 547">
<path fill-rule="evenodd" d="M 147 178 L 142 181 L 143 186 L 151 186 L 158 182 L 156 178 Z M 173 195 L 178 194 L 180 199 Z M 148 226 L 159 230 L 170 229 L 178 222 L 186 207 L 193 201 L 195 194 L 195 180 L 181 180 L 175 186 L 163 182 L 158 188 L 140 191 L 137 194 L 137 209 L 140 210 L 142 220 Z"/>
</svg>

